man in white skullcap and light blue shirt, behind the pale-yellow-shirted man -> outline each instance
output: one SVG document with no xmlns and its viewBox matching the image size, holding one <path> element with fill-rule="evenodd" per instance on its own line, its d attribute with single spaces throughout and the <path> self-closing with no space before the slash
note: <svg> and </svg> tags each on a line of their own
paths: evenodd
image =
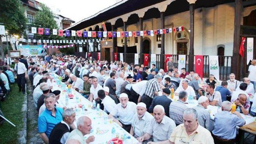
<svg viewBox="0 0 256 144">
<path fill-rule="evenodd" d="M 198 123 L 200 126 L 208 129 L 209 131 L 213 130 L 214 121 L 211 120 L 207 106 L 209 105 L 209 99 L 205 96 L 201 96 L 198 99 L 198 105 L 193 107 L 197 111 Z"/>
</svg>

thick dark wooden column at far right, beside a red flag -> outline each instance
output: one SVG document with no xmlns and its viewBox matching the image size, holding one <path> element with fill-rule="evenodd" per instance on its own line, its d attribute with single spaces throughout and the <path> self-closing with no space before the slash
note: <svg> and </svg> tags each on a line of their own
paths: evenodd
<svg viewBox="0 0 256 144">
<path fill-rule="evenodd" d="M 231 73 L 236 75 L 237 80 L 240 80 L 240 60 L 239 45 L 240 45 L 240 20 L 242 11 L 242 0 L 235 1 L 235 16 L 234 16 L 234 42 L 233 56 L 231 59 Z"/>
</svg>

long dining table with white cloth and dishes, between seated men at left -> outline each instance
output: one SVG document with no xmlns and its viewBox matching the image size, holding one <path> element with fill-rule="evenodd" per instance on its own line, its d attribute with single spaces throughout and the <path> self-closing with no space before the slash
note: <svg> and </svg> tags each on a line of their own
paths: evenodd
<svg viewBox="0 0 256 144">
<path fill-rule="evenodd" d="M 52 83 L 52 91 L 61 91 L 58 102 L 62 105 L 65 105 L 66 108 L 73 108 L 76 111 L 76 119 L 80 118 L 81 116 L 87 116 L 91 119 L 93 129 L 90 134 L 84 135 L 85 138 L 88 138 L 90 135 L 95 136 L 95 140 L 94 142 L 91 142 L 91 144 L 107 144 L 111 139 L 115 137 L 122 139 L 123 135 L 125 134 L 127 137 L 131 137 L 132 144 L 140 144 L 130 133 L 115 123 L 113 119 L 109 119 L 107 113 L 101 109 L 92 109 L 93 103 L 84 98 L 73 88 L 70 88 L 70 93 L 73 95 L 73 98 L 69 98 L 68 103 L 66 103 L 66 95 L 68 94 L 67 86 L 64 83 L 58 81 L 59 76 L 57 74 L 51 75 L 54 77 Z M 76 126 L 76 121 L 74 121 L 74 125 Z M 115 134 L 112 134 L 113 128 L 115 129 Z"/>
</svg>

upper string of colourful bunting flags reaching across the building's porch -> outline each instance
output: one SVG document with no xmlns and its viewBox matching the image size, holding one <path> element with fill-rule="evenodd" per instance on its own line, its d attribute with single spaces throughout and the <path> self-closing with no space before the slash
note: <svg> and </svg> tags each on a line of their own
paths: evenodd
<svg viewBox="0 0 256 144">
<path fill-rule="evenodd" d="M 66 36 L 66 37 L 93 37 L 96 38 L 104 38 L 106 37 L 139 37 L 139 36 L 146 36 L 146 35 L 157 35 L 157 34 L 167 34 L 172 32 L 178 32 L 178 31 L 184 31 L 184 27 L 174 27 L 174 28 L 165 28 L 165 29 L 157 29 L 157 30 L 142 30 L 142 31 L 75 31 L 75 30 L 66 30 L 65 33 L 63 33 L 63 30 L 59 29 L 52 29 L 52 31 L 49 28 L 37 28 L 31 27 L 31 33 L 34 34 L 44 34 L 44 35 L 59 35 L 60 37 Z M 103 35 L 102 35 L 103 32 Z"/>
</svg>

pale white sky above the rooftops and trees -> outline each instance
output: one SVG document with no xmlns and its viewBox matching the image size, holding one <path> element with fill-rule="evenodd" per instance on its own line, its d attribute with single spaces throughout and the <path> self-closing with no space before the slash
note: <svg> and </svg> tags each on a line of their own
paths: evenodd
<svg viewBox="0 0 256 144">
<path fill-rule="evenodd" d="M 78 21 L 96 14 L 116 3 L 116 0 L 37 0 L 46 4 L 53 11 L 60 10 L 60 15 Z M 74 24 L 74 23 L 73 23 Z"/>
</svg>

